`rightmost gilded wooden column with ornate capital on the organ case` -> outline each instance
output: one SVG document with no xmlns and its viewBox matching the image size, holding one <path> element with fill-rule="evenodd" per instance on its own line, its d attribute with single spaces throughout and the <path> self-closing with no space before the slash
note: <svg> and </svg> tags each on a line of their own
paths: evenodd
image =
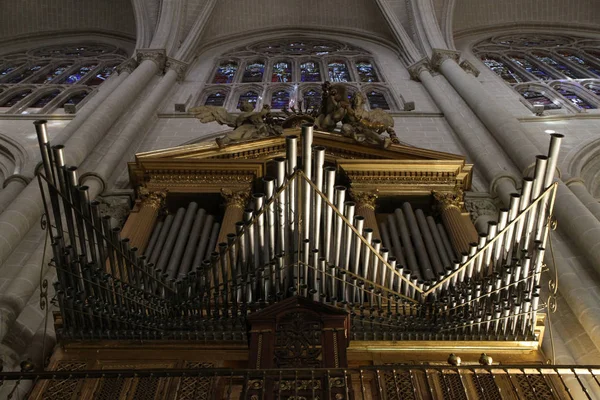
<svg viewBox="0 0 600 400">
<path fill-rule="evenodd" d="M 468 253 L 469 243 L 477 243 L 478 235 L 475 226 L 461 210 L 462 191 L 458 193 L 433 192 L 438 202 L 444 227 L 450 235 L 452 247 L 457 254 Z"/>
</svg>

